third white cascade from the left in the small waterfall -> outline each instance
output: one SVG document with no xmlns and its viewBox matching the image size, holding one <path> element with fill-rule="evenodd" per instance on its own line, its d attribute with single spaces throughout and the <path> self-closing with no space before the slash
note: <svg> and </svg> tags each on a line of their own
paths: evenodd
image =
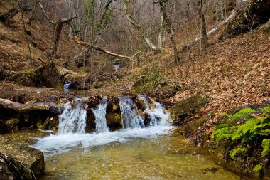
<svg viewBox="0 0 270 180">
<path fill-rule="evenodd" d="M 124 129 L 144 127 L 144 120 L 142 117 L 136 115 L 136 106 L 131 99 L 128 97 L 119 97 L 119 105 Z"/>
</svg>

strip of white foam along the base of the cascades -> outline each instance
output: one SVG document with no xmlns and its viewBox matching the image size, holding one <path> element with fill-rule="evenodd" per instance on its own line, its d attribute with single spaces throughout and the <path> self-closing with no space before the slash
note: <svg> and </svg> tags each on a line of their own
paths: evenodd
<svg viewBox="0 0 270 180">
<path fill-rule="evenodd" d="M 172 126 L 155 126 L 147 128 L 122 129 L 115 132 L 93 133 L 93 134 L 50 134 L 44 138 L 37 139 L 33 148 L 40 149 L 45 157 L 70 151 L 73 147 L 94 147 L 112 142 L 126 142 L 134 138 L 154 139 L 168 134 Z"/>
</svg>

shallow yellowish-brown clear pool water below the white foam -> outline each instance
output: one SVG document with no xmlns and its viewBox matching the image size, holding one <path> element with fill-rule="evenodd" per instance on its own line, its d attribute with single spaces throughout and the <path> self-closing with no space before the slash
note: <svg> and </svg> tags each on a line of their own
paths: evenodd
<svg viewBox="0 0 270 180">
<path fill-rule="evenodd" d="M 115 133 L 115 132 L 114 132 Z M 34 144 L 44 132 L 19 132 L 5 137 Z M 89 137 L 91 138 L 91 137 Z M 132 138 L 45 157 L 41 179 L 241 179 L 182 137 Z"/>
</svg>

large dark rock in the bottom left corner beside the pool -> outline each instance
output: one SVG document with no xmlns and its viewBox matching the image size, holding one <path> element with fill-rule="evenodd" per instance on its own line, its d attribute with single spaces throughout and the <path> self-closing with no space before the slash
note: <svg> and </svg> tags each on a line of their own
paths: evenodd
<svg viewBox="0 0 270 180">
<path fill-rule="evenodd" d="M 11 176 L 13 179 L 36 179 L 45 170 L 44 155 L 40 150 L 28 147 L 28 144 L 13 144 L 10 139 L 0 142 L 0 164 L 4 169 L 0 174 L 7 179 Z"/>
</svg>

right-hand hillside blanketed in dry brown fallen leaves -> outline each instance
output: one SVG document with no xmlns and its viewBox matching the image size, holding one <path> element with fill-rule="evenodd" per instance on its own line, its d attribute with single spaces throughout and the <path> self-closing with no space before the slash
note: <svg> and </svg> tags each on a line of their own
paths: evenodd
<svg viewBox="0 0 270 180">
<path fill-rule="evenodd" d="M 190 60 L 173 68 L 183 90 L 169 101 L 200 93 L 211 98 L 207 110 L 224 112 L 269 100 L 270 36 L 254 31 L 209 46 L 204 59 L 186 55 Z"/>
</svg>

